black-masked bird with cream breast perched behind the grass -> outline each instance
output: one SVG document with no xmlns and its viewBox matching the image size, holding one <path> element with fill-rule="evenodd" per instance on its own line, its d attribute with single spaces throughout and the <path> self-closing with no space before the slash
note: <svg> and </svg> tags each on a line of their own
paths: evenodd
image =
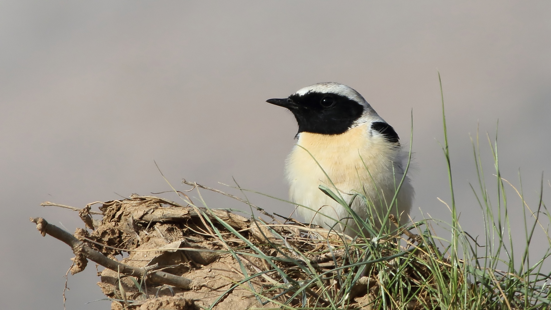
<svg viewBox="0 0 551 310">
<path fill-rule="evenodd" d="M 356 90 L 323 82 L 266 102 L 287 108 L 298 124 L 285 177 L 299 216 L 351 237 L 362 232 L 369 236 L 358 217 L 372 232 L 396 228 L 383 222 L 391 209 L 398 222 L 407 222 L 414 196 L 406 173 L 408 152 L 393 127 Z M 327 189 L 356 213 L 356 219 Z"/>
</svg>

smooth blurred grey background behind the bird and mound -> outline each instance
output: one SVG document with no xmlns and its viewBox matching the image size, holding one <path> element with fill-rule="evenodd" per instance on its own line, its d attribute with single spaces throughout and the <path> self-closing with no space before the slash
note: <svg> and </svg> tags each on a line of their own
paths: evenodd
<svg viewBox="0 0 551 310">
<path fill-rule="evenodd" d="M 551 170 L 548 1 L 0 1 L 0 297 L 3 309 L 60 309 L 67 245 L 29 217 L 73 232 L 83 207 L 176 189 L 182 178 L 287 198 L 296 124 L 264 102 L 322 81 L 355 88 L 408 141 L 412 216 L 449 221 L 440 89 L 463 228 L 483 233 L 469 182 L 471 136 L 495 135 L 503 176 L 536 207 Z M 407 143 L 409 144 L 409 143 Z M 549 193 L 544 174 L 544 199 Z M 489 186 L 495 188 L 495 180 Z M 118 194 L 118 195 L 117 195 Z M 206 193 L 205 193 L 206 194 Z M 239 194 L 239 193 L 238 193 Z M 196 193 L 192 194 L 197 196 Z M 175 195 L 166 195 L 176 200 Z M 248 197 L 269 211 L 291 206 Z M 523 248 L 522 207 L 509 191 Z M 247 206 L 206 194 L 210 207 Z M 494 199 L 495 200 L 495 199 Z M 448 237 L 448 236 L 442 236 Z M 538 239 L 534 253 L 548 248 Z M 539 252 L 538 252 L 539 250 Z M 94 265 L 69 276 L 67 309 L 106 309 Z"/>
</svg>

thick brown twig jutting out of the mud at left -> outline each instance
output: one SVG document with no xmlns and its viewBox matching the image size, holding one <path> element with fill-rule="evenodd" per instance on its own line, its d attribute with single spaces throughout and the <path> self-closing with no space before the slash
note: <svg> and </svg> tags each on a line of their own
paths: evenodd
<svg viewBox="0 0 551 310">
<path fill-rule="evenodd" d="M 41 217 L 30 218 L 30 221 L 33 223 L 36 223 L 36 229 L 38 229 L 38 231 L 42 234 L 42 236 L 46 236 L 46 234 L 49 234 L 50 236 L 58 240 L 61 240 L 62 242 L 69 245 L 69 247 L 73 249 L 73 252 L 77 256 L 75 260 L 80 259 L 79 256 L 83 255 L 83 257 L 81 256 L 83 259 L 90 259 L 95 263 L 98 263 L 104 266 L 107 269 L 111 269 L 113 271 L 120 271 L 121 274 L 134 276 L 138 278 L 143 277 L 147 274 L 147 277 L 152 282 L 155 282 L 158 284 L 172 285 L 172 286 L 184 288 L 186 290 L 191 290 L 195 286 L 192 280 L 187 279 L 185 277 L 176 276 L 164 271 L 148 272 L 148 270 L 146 270 L 145 268 L 138 268 L 138 267 L 125 265 L 125 264 L 119 263 L 116 260 L 107 258 L 105 255 L 101 254 L 100 252 L 90 248 L 86 243 L 75 238 L 72 234 L 64 231 L 63 229 L 55 225 L 51 225 L 50 223 L 46 222 L 44 218 L 41 218 Z"/>
</svg>

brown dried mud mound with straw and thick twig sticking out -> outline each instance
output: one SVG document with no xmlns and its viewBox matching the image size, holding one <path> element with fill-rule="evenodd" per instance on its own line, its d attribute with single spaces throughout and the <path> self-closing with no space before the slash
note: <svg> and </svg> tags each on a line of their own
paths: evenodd
<svg viewBox="0 0 551 310">
<path fill-rule="evenodd" d="M 74 235 L 43 218 L 31 221 L 73 248 L 73 274 L 88 259 L 106 267 L 98 285 L 112 309 L 311 307 L 326 303 L 321 290 L 338 290 L 331 274 L 302 291 L 296 284 L 311 277 L 309 270 L 323 274 L 354 256 L 342 249 L 342 235 L 289 218 L 268 223 L 138 195 L 103 202 L 101 212 L 90 206 L 63 206 L 79 211 L 88 228 Z"/>
</svg>

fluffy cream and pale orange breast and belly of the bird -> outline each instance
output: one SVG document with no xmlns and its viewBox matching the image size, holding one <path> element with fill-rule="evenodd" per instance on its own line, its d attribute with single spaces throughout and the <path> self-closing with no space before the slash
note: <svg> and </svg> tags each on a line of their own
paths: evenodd
<svg viewBox="0 0 551 310">
<path fill-rule="evenodd" d="M 341 135 L 301 132 L 287 161 L 290 199 L 304 206 L 298 207 L 298 213 L 306 222 L 334 227 L 355 236 L 358 227 L 353 220 L 347 221 L 349 213 L 318 186 L 332 189 L 347 204 L 353 194 L 360 194 L 366 197 L 367 203 L 363 197 L 356 196 L 352 209 L 363 220 L 380 228 L 377 218 L 385 217 L 402 179 L 401 161 L 399 148 L 389 145 L 379 135 L 371 135 L 367 124 Z M 397 196 L 397 207 L 392 210 L 402 222 L 408 220 L 412 198 L 413 188 L 406 178 Z"/>
</svg>

